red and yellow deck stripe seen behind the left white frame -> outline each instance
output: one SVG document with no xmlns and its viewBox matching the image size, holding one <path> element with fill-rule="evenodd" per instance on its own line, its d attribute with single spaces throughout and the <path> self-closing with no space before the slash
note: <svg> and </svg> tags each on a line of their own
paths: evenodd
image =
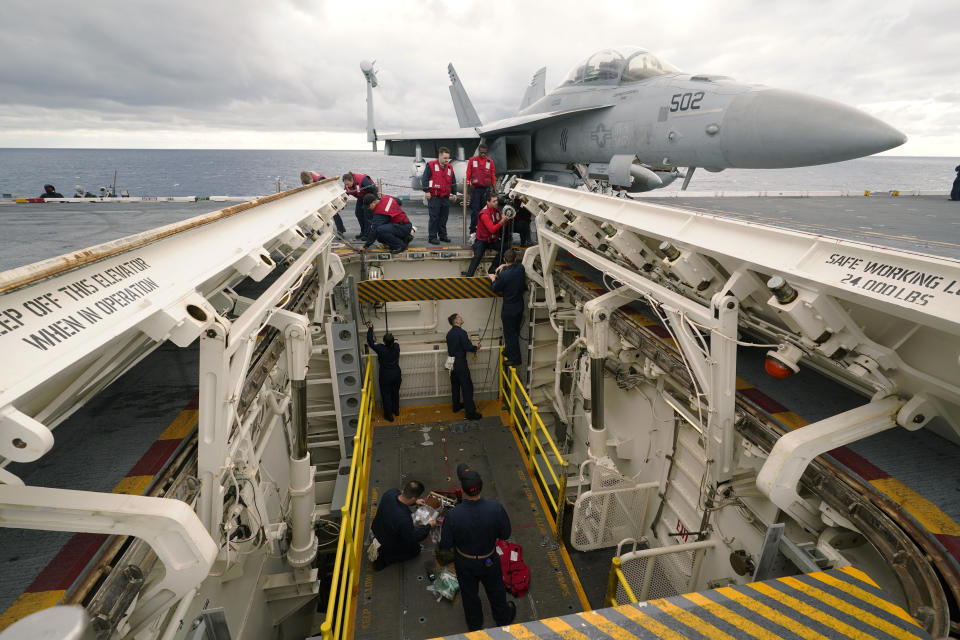
<svg viewBox="0 0 960 640">
<path fill-rule="evenodd" d="M 174 418 L 111 493 L 146 493 L 156 474 L 170 461 L 183 439 L 196 426 L 199 413 L 197 401 L 198 398 L 194 397 Z M 94 533 L 78 533 L 70 538 L 26 591 L 0 615 L 0 631 L 31 613 L 52 607 L 63 600 L 67 590 L 95 559 L 108 538 L 107 535 Z"/>
</svg>

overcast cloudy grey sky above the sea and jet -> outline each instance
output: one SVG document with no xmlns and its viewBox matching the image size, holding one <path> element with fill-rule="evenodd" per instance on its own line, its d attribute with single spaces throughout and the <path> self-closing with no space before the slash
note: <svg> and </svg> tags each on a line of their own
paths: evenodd
<svg viewBox="0 0 960 640">
<path fill-rule="evenodd" d="M 960 155 L 960 2 L 3 0 L 0 147 L 361 149 L 377 128 L 456 126 L 453 62 L 481 119 L 512 115 L 605 47 L 646 47 L 863 109 L 896 155 Z"/>
</svg>

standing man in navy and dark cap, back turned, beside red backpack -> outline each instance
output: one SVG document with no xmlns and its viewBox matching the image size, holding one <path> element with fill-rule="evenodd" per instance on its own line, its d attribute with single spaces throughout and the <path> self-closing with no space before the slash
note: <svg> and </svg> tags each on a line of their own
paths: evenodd
<svg viewBox="0 0 960 640">
<path fill-rule="evenodd" d="M 463 488 L 463 502 L 444 518 L 440 548 L 454 549 L 454 567 L 467 628 L 470 631 L 483 628 L 481 582 L 490 601 L 493 621 L 502 627 L 513 622 L 517 615 L 517 605 L 507 602 L 496 547 L 497 540 L 510 537 L 510 517 L 502 504 L 480 497 L 483 480 L 479 473 L 460 463 L 457 476 Z"/>
</svg>

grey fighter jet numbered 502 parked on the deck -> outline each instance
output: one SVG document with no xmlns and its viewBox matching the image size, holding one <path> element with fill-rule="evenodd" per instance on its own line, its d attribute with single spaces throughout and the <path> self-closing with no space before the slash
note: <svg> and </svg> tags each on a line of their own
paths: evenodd
<svg viewBox="0 0 960 640">
<path fill-rule="evenodd" d="M 854 107 L 727 76 L 692 75 L 641 48 L 598 51 L 549 93 L 540 69 L 517 114 L 489 124 L 481 123 L 453 65 L 447 70 L 460 128 L 377 134 L 369 113 L 368 135 L 385 143 L 387 155 L 416 158 L 415 174 L 441 146 L 451 150 L 457 170 L 456 161 L 482 140 L 498 175 L 566 186 L 599 180 L 641 192 L 669 184 L 684 175 L 682 168 L 686 188 L 697 167 L 802 167 L 906 142 Z"/>
</svg>

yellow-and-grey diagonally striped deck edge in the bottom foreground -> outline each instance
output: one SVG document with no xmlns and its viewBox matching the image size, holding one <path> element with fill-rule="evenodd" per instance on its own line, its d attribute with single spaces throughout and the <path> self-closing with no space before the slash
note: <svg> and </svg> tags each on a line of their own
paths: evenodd
<svg viewBox="0 0 960 640">
<path fill-rule="evenodd" d="M 763 640 L 930 636 L 852 568 L 722 587 L 597 611 L 456 634 L 457 640 Z"/>
</svg>

